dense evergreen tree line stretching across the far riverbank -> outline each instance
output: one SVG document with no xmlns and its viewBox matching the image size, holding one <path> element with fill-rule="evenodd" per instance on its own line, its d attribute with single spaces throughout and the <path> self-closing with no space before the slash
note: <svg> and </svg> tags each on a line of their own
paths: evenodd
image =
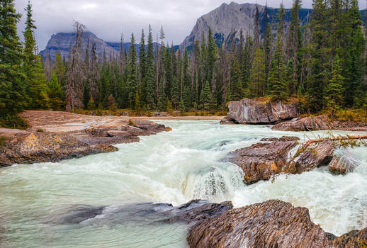
<svg viewBox="0 0 367 248">
<path fill-rule="evenodd" d="M 1 1 L 1 124 L 21 125 L 16 113 L 26 108 L 216 111 L 245 97 L 297 99 L 306 113 L 367 108 L 366 33 L 358 1 L 313 0 L 304 26 L 300 7 L 294 0 L 288 24 L 283 4 L 277 23 L 269 22 L 265 8 L 262 35 L 256 7 L 253 33 L 233 31 L 217 44 L 209 29 L 190 50 L 175 51 L 165 43 L 163 28 L 154 47 L 149 26 L 147 37 L 142 30 L 138 54 L 132 33 L 128 50 L 121 35 L 119 55 L 105 52 L 103 58 L 95 43 L 83 45 L 85 27 L 75 22 L 68 60 L 57 53 L 55 61 L 46 57 L 43 62 L 31 4 L 21 43 L 16 33 L 21 16 L 13 0 Z"/>
</svg>

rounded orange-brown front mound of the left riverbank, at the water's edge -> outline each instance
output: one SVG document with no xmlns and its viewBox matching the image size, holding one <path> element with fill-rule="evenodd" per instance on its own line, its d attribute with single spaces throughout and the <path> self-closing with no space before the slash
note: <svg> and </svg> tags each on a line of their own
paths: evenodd
<svg viewBox="0 0 367 248">
<path fill-rule="evenodd" d="M 0 165 L 57 162 L 101 152 L 115 152 L 112 145 L 88 145 L 66 133 L 20 133 L 0 149 Z"/>
</svg>

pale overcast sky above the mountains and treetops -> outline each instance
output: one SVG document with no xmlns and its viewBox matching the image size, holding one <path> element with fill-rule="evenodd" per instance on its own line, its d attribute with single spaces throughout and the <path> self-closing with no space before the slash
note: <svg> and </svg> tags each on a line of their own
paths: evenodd
<svg viewBox="0 0 367 248">
<path fill-rule="evenodd" d="M 149 23 L 155 35 L 162 25 L 166 41 L 179 45 L 191 33 L 197 18 L 217 8 L 225 0 L 30 0 L 33 4 L 33 18 L 37 30 L 35 38 L 40 50 L 47 45 L 50 36 L 58 32 L 73 30 L 73 20 L 84 23 L 86 28 L 99 38 L 118 41 L 121 30 L 125 40 L 130 40 L 133 32 L 140 40 L 142 28 L 147 30 Z M 266 0 L 236 1 L 265 5 Z M 283 0 L 290 8 L 292 0 Z M 18 33 L 23 36 L 24 8 L 28 0 L 15 0 L 16 10 L 23 13 Z M 268 5 L 278 7 L 280 0 L 268 0 Z M 361 4 L 361 1 L 360 1 Z M 312 0 L 304 0 L 303 8 L 311 8 Z M 361 4 L 361 7 L 364 8 Z"/>
</svg>

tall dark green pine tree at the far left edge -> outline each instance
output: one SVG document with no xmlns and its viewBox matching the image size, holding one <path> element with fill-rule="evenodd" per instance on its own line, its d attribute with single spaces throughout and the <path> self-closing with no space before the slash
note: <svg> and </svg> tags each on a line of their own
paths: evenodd
<svg viewBox="0 0 367 248">
<path fill-rule="evenodd" d="M 16 31 L 21 15 L 16 13 L 13 0 L 0 3 L 0 125 L 25 125 L 16 115 L 23 110 L 26 78 L 21 69 L 22 47 Z"/>
</svg>

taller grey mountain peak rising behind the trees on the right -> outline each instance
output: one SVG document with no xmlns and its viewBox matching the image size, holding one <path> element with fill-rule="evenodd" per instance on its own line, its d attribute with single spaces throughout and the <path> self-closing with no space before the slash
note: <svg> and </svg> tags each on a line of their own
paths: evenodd
<svg viewBox="0 0 367 248">
<path fill-rule="evenodd" d="M 244 35 L 248 32 L 254 33 L 254 16 L 256 13 L 256 6 L 259 9 L 260 17 L 260 33 L 264 34 L 265 30 L 265 6 L 259 4 L 236 4 L 232 2 L 230 4 L 222 4 L 217 9 L 210 11 L 198 18 L 196 25 L 193 27 L 190 35 L 188 35 L 180 47 L 191 47 L 194 40 L 201 41 L 201 35 L 203 32 L 205 35 L 208 33 L 209 28 L 212 29 L 212 33 L 217 44 L 225 40 L 234 30 L 236 37 L 239 38 L 239 31 L 242 29 Z M 268 18 L 270 23 L 277 22 L 277 15 L 279 9 L 268 7 Z M 299 16 L 301 24 L 307 23 L 310 18 L 311 9 L 300 9 Z M 290 22 L 290 9 L 286 9 L 286 26 Z M 273 30 L 276 30 L 276 25 L 273 25 Z"/>
</svg>

